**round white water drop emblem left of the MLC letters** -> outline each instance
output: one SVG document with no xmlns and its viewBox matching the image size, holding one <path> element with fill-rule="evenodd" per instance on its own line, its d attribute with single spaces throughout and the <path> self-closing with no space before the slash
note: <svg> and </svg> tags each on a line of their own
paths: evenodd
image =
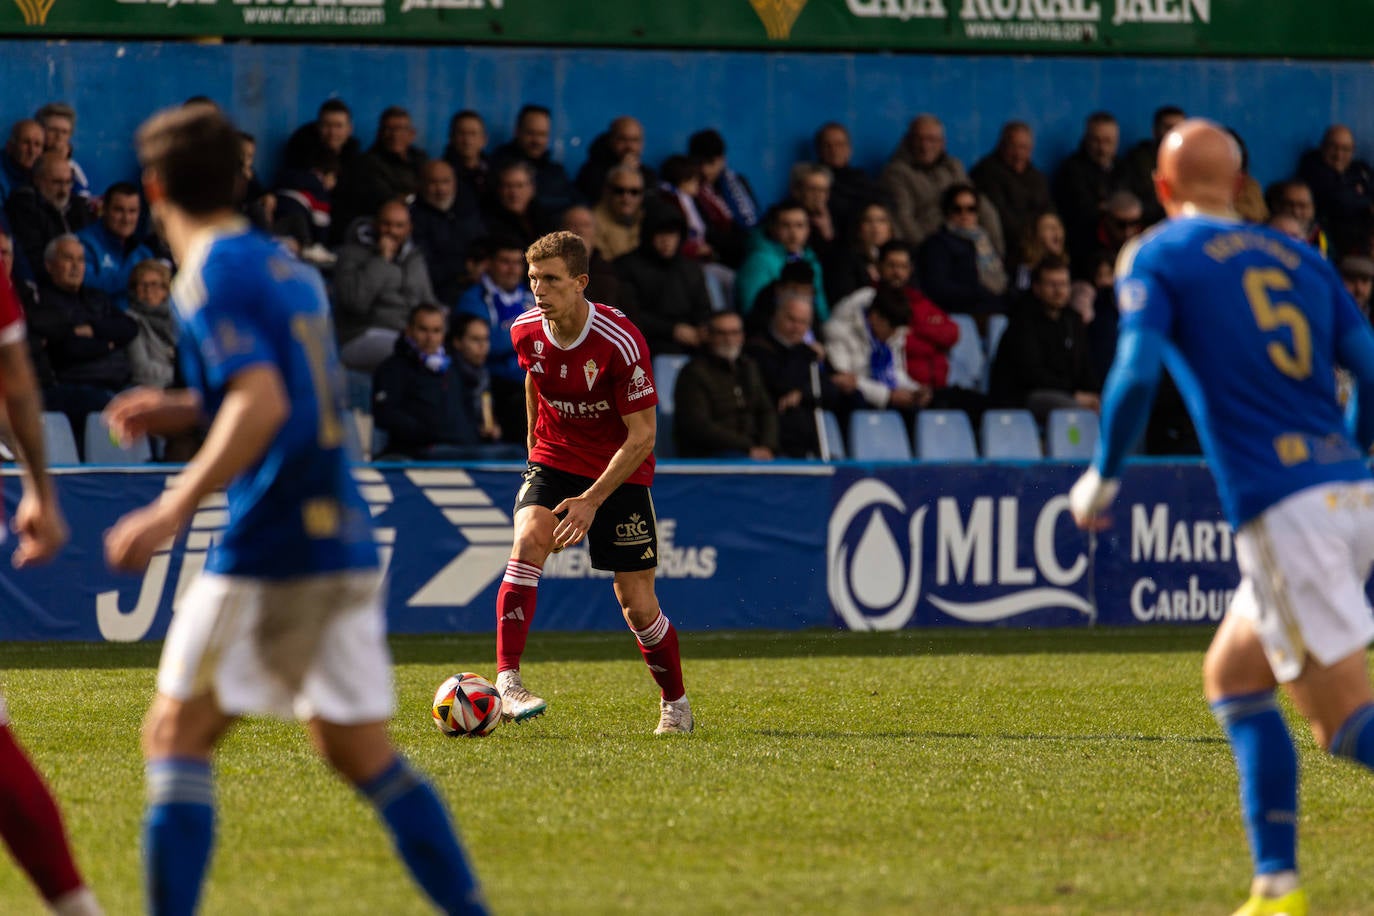
<svg viewBox="0 0 1374 916">
<path fill-rule="evenodd" d="M 911 621 L 921 596 L 921 531 L 927 507 L 911 514 L 910 564 L 885 518 L 883 507 L 905 518 L 907 504 L 882 481 L 859 481 L 830 514 L 826 542 L 830 603 L 853 630 L 899 630 Z M 851 544 L 855 522 L 863 525 Z M 910 574 L 908 574 L 910 569 Z"/>
</svg>

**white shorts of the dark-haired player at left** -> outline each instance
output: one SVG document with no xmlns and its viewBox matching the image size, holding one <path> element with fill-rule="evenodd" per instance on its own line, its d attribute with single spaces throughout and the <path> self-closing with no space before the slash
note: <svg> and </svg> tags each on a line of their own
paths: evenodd
<svg viewBox="0 0 1374 916">
<path fill-rule="evenodd" d="M 202 573 L 172 618 L 158 692 L 209 692 L 228 715 L 385 721 L 396 703 L 381 596 L 372 570 L 289 581 Z"/>
</svg>

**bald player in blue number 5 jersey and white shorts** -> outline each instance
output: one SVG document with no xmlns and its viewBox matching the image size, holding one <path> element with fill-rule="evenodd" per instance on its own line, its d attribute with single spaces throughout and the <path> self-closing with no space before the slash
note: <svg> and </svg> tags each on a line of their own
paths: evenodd
<svg viewBox="0 0 1374 916">
<path fill-rule="evenodd" d="M 1121 338 L 1102 439 L 1069 493 L 1099 529 L 1121 461 L 1145 428 L 1161 363 L 1198 427 L 1241 585 L 1212 640 L 1204 684 L 1241 781 L 1254 860 L 1237 916 L 1305 916 L 1297 873 L 1297 753 L 1275 703 L 1283 684 L 1331 754 L 1374 768 L 1374 692 L 1364 648 L 1374 617 L 1374 332 L 1308 246 L 1239 222 L 1241 154 L 1208 121 L 1160 146 L 1156 188 L 1169 220 L 1121 253 Z M 1353 435 L 1336 367 L 1358 380 Z"/>
</svg>

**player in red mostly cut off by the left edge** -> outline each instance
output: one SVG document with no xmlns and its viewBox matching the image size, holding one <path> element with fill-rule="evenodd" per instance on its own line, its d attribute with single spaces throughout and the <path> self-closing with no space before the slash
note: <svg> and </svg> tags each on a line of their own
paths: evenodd
<svg viewBox="0 0 1374 916">
<path fill-rule="evenodd" d="M 67 542 L 67 525 L 43 455 L 43 401 L 29 365 L 23 313 L 10 276 L 0 271 L 0 397 L 23 459 L 23 496 L 14 514 L 19 545 L 16 567 L 47 563 Z M 54 913 L 100 912 L 95 894 L 81 883 L 62 816 L 43 777 L 10 733 L 10 714 L 0 696 L 0 835 Z"/>
</svg>

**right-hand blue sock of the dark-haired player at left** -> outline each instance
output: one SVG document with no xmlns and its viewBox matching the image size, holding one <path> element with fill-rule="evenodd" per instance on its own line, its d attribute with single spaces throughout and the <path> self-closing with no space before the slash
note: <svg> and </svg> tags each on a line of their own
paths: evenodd
<svg viewBox="0 0 1374 916">
<path fill-rule="evenodd" d="M 386 821 L 405 867 L 445 913 L 485 916 L 486 906 L 463 847 L 434 788 L 397 757 L 381 776 L 360 784 Z"/>
</svg>

